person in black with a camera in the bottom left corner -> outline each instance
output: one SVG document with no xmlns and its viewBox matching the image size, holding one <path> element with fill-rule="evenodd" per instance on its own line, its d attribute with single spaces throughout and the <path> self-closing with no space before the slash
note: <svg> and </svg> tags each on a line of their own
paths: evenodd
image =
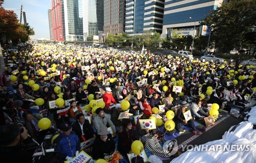
<svg viewBox="0 0 256 163">
<path fill-rule="evenodd" d="M 32 155 L 37 147 L 25 127 L 17 124 L 1 126 L 0 156 L 3 162 L 32 162 Z"/>
</svg>

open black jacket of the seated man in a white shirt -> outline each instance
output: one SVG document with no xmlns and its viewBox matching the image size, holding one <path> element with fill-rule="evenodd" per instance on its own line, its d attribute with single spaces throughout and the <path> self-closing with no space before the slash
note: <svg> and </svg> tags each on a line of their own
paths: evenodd
<svg viewBox="0 0 256 163">
<path fill-rule="evenodd" d="M 79 140 L 82 142 L 81 140 L 82 130 L 80 128 L 78 121 L 75 121 L 72 124 L 72 131 L 74 131 L 78 135 Z M 84 133 L 84 137 L 86 137 L 87 140 L 91 139 L 95 134 L 91 124 L 87 119 L 83 123 L 83 133 Z"/>
</svg>

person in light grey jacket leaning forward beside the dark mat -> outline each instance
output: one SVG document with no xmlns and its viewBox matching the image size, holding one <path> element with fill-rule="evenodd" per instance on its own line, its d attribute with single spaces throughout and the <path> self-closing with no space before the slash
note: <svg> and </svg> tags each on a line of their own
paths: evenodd
<svg viewBox="0 0 256 163">
<path fill-rule="evenodd" d="M 196 119 L 204 120 L 205 117 L 209 117 L 207 113 L 205 113 L 201 108 L 202 101 L 200 99 L 196 99 L 196 102 L 193 102 L 187 110 L 190 110 L 192 117 Z"/>
</svg>

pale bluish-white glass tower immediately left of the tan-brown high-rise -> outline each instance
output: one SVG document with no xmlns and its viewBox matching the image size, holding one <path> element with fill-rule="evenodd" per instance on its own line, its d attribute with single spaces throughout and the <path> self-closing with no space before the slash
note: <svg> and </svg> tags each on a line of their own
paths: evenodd
<svg viewBox="0 0 256 163">
<path fill-rule="evenodd" d="M 99 36 L 103 32 L 104 14 L 103 0 L 82 2 L 83 9 L 83 36 L 84 40 L 87 37 Z"/>
</svg>

